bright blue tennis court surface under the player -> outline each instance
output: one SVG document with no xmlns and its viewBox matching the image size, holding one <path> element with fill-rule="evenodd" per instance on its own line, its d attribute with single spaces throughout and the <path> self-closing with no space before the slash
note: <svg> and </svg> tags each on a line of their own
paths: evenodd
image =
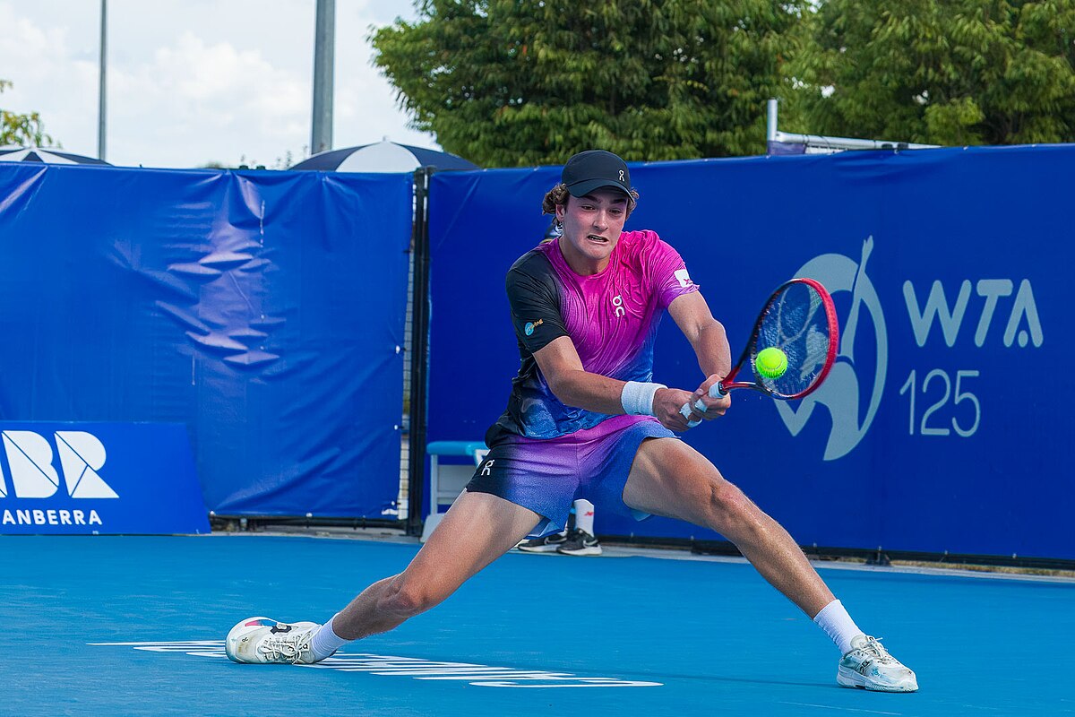
<svg viewBox="0 0 1075 717">
<path fill-rule="evenodd" d="M 918 673 L 919 692 L 883 694 L 837 687 L 829 640 L 748 564 L 680 551 L 513 553 L 440 607 L 317 666 L 224 657 L 239 619 L 322 621 L 416 550 L 244 534 L 3 539 L 3 711 L 1075 713 L 1057 663 L 1075 636 L 1072 580 L 821 563 L 860 625 Z"/>
</svg>

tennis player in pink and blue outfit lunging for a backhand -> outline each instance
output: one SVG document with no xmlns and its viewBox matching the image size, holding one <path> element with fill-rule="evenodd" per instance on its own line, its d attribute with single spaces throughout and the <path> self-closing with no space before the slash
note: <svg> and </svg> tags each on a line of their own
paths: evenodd
<svg viewBox="0 0 1075 717">
<path fill-rule="evenodd" d="M 915 673 L 864 634 L 773 518 L 676 438 L 731 405 L 710 386 L 731 369 L 713 318 L 679 255 L 651 231 L 624 231 L 635 207 L 627 164 L 603 150 L 563 168 L 544 199 L 562 235 L 507 272 L 521 365 L 507 410 L 486 434 L 489 455 L 399 575 L 374 583 L 324 626 L 243 620 L 228 634 L 236 662 L 312 663 L 386 632 L 448 598 L 530 534 L 563 529 L 571 503 L 644 519 L 679 518 L 732 541 L 759 573 L 821 627 L 843 656 L 845 687 L 911 692 Z M 671 314 L 705 379 L 694 391 L 653 382 L 654 340 Z"/>
</svg>

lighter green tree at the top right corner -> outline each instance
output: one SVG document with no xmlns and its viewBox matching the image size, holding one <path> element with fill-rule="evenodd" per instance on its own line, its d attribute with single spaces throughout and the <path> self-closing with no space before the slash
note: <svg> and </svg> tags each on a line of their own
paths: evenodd
<svg viewBox="0 0 1075 717">
<path fill-rule="evenodd" d="M 826 0 L 790 71 L 799 127 L 931 144 L 1075 140 L 1075 0 Z"/>
</svg>

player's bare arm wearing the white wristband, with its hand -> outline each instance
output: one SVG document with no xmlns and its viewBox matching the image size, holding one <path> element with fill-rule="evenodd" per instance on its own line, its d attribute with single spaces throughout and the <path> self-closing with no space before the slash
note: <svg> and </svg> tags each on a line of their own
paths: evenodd
<svg viewBox="0 0 1075 717">
<path fill-rule="evenodd" d="M 583 368 L 575 344 L 560 336 L 534 352 L 534 360 L 553 393 L 564 405 L 608 415 L 626 414 L 624 387 L 627 382 L 590 373 Z M 689 391 L 660 388 L 654 395 L 653 414 L 673 431 L 687 429 L 687 419 L 679 407 L 691 398 Z M 648 413 L 648 412 L 647 412 Z"/>
</svg>

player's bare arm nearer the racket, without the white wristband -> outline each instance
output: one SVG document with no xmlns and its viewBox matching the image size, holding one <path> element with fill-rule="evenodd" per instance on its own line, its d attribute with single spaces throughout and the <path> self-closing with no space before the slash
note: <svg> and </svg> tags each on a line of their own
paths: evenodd
<svg viewBox="0 0 1075 717">
<path fill-rule="evenodd" d="M 694 411 L 696 418 L 716 418 L 723 415 L 731 405 L 731 400 L 727 396 L 713 399 L 708 395 L 710 387 L 727 376 L 732 369 L 731 346 L 728 345 L 728 334 L 725 333 L 723 325 L 713 318 L 710 305 L 705 303 L 705 298 L 700 291 L 676 297 L 669 304 L 669 314 L 690 342 L 691 348 L 698 356 L 698 365 L 705 375 L 705 381 L 691 397 L 690 405 L 693 406 L 698 399 L 702 399 L 706 413 Z"/>
</svg>

